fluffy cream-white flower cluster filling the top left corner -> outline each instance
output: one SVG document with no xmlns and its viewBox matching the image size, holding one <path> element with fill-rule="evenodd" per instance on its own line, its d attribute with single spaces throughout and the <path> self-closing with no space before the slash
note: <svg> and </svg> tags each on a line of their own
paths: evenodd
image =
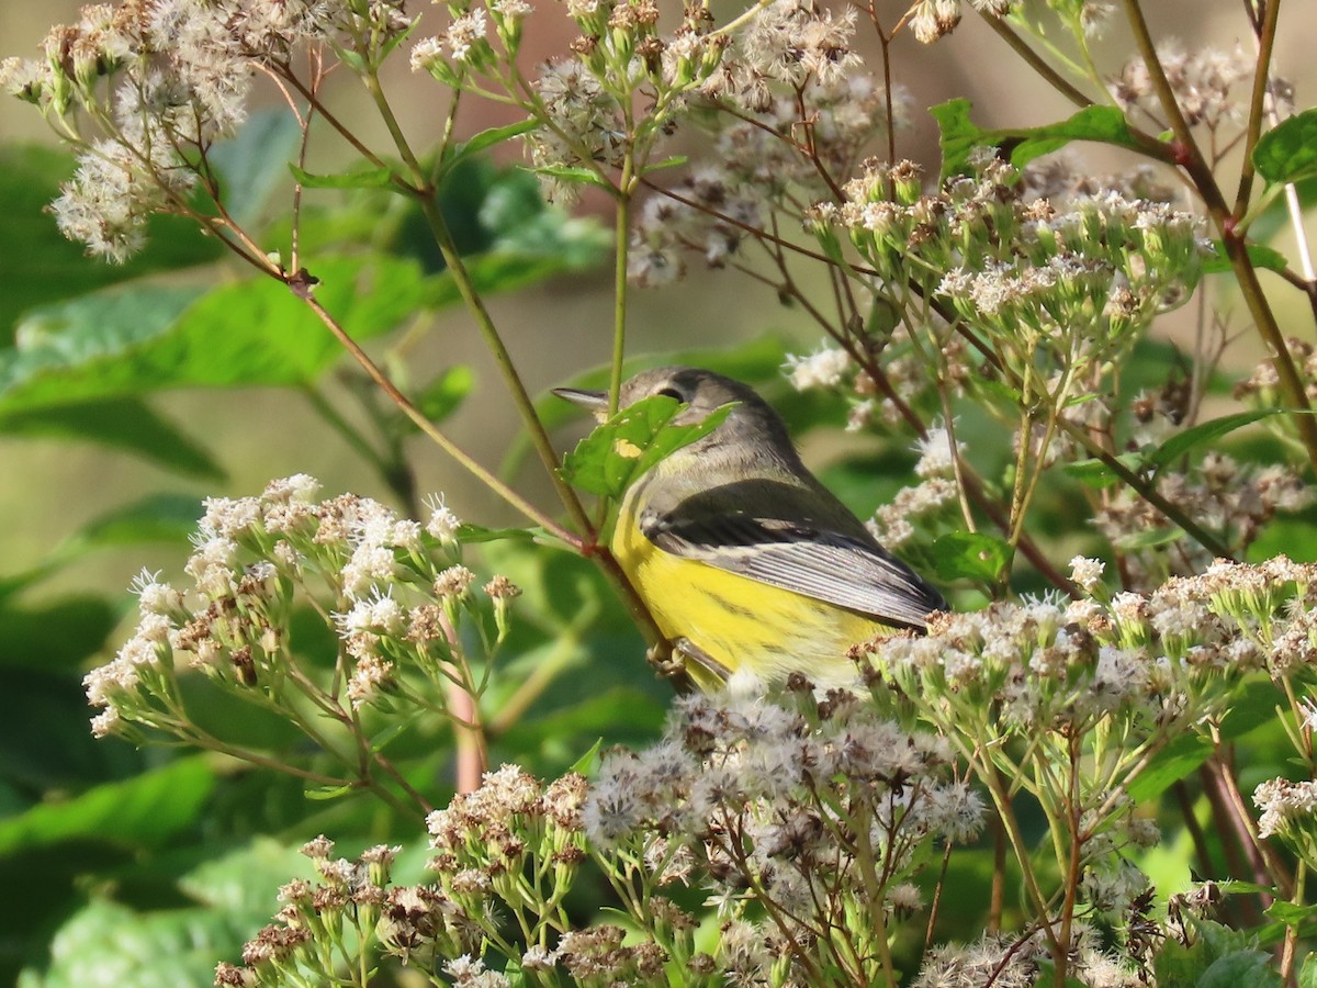
<svg viewBox="0 0 1317 988">
<path fill-rule="evenodd" d="M 278 69 L 296 46 L 354 25 L 396 33 L 407 24 L 399 0 L 92 4 L 51 29 L 42 58 L 0 63 L 0 88 L 82 149 L 53 206 L 59 229 L 122 262 L 145 242 L 151 213 L 183 211 L 209 146 L 245 119 L 258 67 Z"/>
</svg>

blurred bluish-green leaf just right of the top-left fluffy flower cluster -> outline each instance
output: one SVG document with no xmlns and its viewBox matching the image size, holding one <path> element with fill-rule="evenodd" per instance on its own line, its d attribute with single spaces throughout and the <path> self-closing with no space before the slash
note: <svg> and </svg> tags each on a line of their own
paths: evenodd
<svg viewBox="0 0 1317 988">
<path fill-rule="evenodd" d="M 209 150 L 224 209 L 240 227 L 255 224 L 274 190 L 288 180 L 284 163 L 300 138 L 302 126 L 287 107 L 266 107 L 252 112 L 237 134 Z"/>
</svg>

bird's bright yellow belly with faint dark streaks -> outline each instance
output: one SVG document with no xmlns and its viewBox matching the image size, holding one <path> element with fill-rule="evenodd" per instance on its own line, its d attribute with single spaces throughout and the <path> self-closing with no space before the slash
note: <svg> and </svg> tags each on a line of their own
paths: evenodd
<svg viewBox="0 0 1317 988">
<path fill-rule="evenodd" d="M 857 672 L 847 649 L 890 630 L 813 597 L 673 556 L 633 526 L 619 526 L 612 552 L 664 635 L 689 639 L 728 672 L 747 668 L 773 681 L 799 672 L 819 686 L 853 685 Z"/>
</svg>

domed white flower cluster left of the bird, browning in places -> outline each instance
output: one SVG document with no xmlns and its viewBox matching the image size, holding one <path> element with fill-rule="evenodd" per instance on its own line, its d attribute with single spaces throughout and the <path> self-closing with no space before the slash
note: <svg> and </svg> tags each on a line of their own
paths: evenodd
<svg viewBox="0 0 1317 988">
<path fill-rule="evenodd" d="M 312 594 L 312 582 L 328 591 L 316 606 L 341 639 L 354 707 L 394 696 L 403 671 L 435 682 L 457 674 L 453 663 L 465 659 L 456 627 L 477 602 L 469 594 L 475 576 L 457 563 L 453 512 L 435 499 L 423 526 L 370 498 L 317 502 L 319 487 L 298 474 L 273 481 L 259 497 L 207 499 L 184 566 L 192 588 L 142 573 L 133 584 L 137 630 L 84 680 L 88 701 L 104 707 L 92 721 L 97 736 L 176 726 L 166 711 L 179 668 L 238 690 L 284 681 L 298 661 L 287 617 L 296 595 Z M 499 635 L 518 593 L 502 577 L 486 585 Z"/>
</svg>

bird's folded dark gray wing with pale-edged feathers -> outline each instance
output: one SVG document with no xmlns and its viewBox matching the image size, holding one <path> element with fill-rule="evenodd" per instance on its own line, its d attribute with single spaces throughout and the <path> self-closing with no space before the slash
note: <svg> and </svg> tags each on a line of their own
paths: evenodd
<svg viewBox="0 0 1317 988">
<path fill-rule="evenodd" d="M 926 626 L 947 602 L 877 544 L 822 526 L 747 514 L 645 512 L 640 530 L 664 552 L 780 586 L 885 623 Z"/>
</svg>

